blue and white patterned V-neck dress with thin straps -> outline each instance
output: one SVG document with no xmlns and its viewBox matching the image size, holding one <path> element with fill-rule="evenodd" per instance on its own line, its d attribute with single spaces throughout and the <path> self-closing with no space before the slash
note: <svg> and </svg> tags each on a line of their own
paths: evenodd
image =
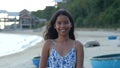
<svg viewBox="0 0 120 68">
<path fill-rule="evenodd" d="M 52 45 L 49 56 L 49 68 L 75 68 L 76 48 L 73 47 L 64 57 Z"/>
</svg>

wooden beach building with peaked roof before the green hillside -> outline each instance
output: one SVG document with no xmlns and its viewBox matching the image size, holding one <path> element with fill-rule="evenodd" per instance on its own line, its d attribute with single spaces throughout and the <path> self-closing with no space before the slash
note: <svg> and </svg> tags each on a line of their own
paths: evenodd
<svg viewBox="0 0 120 68">
<path fill-rule="evenodd" d="M 19 13 L 19 26 L 20 29 L 31 29 L 39 25 L 40 23 L 45 23 L 46 19 L 40 19 L 31 14 L 28 10 L 24 9 Z"/>
</svg>

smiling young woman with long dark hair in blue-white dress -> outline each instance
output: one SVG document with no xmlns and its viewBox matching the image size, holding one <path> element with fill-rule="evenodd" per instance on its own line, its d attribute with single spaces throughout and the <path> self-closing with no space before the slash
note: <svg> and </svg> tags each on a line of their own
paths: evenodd
<svg viewBox="0 0 120 68">
<path fill-rule="evenodd" d="M 59 9 L 45 32 L 39 68 L 83 68 L 83 45 L 75 40 L 74 22 L 70 13 Z"/>
</svg>

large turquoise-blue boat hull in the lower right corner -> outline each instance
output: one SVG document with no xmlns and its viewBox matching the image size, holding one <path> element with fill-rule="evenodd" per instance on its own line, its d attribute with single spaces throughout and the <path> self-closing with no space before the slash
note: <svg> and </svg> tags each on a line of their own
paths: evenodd
<svg viewBox="0 0 120 68">
<path fill-rule="evenodd" d="M 93 68 L 120 68 L 120 54 L 93 57 L 91 64 Z"/>
</svg>

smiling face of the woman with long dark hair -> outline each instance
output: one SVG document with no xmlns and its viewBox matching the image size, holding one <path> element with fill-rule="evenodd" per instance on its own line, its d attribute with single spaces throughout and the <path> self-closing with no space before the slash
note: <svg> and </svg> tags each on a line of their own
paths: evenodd
<svg viewBox="0 0 120 68">
<path fill-rule="evenodd" d="M 58 32 L 58 36 L 59 35 L 62 35 L 62 36 L 69 35 L 69 31 L 72 27 L 69 18 L 65 15 L 58 16 L 54 26 Z"/>
</svg>

